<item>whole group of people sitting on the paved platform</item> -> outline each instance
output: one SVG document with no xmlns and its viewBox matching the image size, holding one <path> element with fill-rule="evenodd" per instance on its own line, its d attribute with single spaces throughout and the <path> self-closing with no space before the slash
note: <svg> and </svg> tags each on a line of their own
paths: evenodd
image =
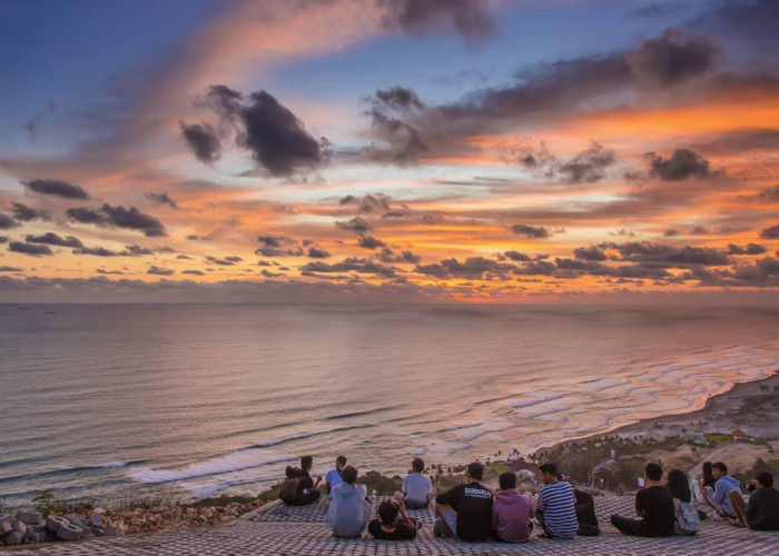
<svg viewBox="0 0 779 556">
<path fill-rule="evenodd" d="M 286 504 L 305 505 L 319 498 L 322 477 L 317 477 L 316 481 L 312 478 L 313 461 L 312 456 L 304 456 L 299 468 L 287 467 L 279 492 L 279 498 Z M 714 464 L 718 465 L 720 464 Z M 467 466 L 465 484 L 436 495 L 424 469 L 424 461 L 414 458 L 412 471 L 404 478 L 401 490 L 391 499 L 382 502 L 377 515 L 369 520 L 367 488 L 357 483 L 357 469 L 346 465 L 346 458 L 339 456 L 335 468 L 325 476 L 325 492 L 329 500 L 328 520 L 333 535 L 357 538 L 367 526 L 368 533 L 378 539 L 412 540 L 422 528 L 422 523 L 410 517 L 406 509 L 422 509 L 431 504 L 435 507 L 433 533 L 436 537 L 525 543 L 533 530 L 533 517 L 543 529 L 539 535 L 543 538 L 573 538 L 575 535 L 592 536 L 600 533 L 592 495 L 574 489 L 552 463 L 539 466 L 542 485 L 535 495 L 521 494 L 516 489 L 516 475 L 512 471 L 500 475 L 500 488 L 492 492 L 481 484 L 484 467 L 480 463 Z M 700 517 L 692 506 L 692 492 L 687 475 L 672 469 L 665 485 L 661 483 L 662 475 L 659 465 L 647 465 L 644 486 L 635 497 L 635 512 L 640 519 L 613 515 L 611 523 L 614 527 L 628 535 L 648 537 L 693 535 L 700 530 Z M 733 522 L 741 519 L 750 528 L 779 529 L 779 495 L 772 488 L 770 474 L 758 474 L 749 483 L 756 492 L 750 496 L 748 505 L 745 505 L 738 490 L 738 497 L 726 496 L 730 505 L 716 502 L 722 499 L 722 493 L 730 485 L 723 477 L 727 477 L 727 468 L 719 475 L 711 492 L 703 496 L 720 504 L 726 514 L 732 512 Z M 703 485 L 703 489 L 706 487 Z M 728 490 L 731 492 L 733 490 Z"/>
</svg>

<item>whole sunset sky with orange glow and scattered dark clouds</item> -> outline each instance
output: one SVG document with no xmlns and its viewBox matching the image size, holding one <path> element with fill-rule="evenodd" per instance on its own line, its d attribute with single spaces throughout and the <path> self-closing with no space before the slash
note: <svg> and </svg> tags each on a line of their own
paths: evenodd
<svg viewBox="0 0 779 556">
<path fill-rule="evenodd" d="M 0 2 L 0 301 L 779 292 L 779 2 Z"/>
</svg>

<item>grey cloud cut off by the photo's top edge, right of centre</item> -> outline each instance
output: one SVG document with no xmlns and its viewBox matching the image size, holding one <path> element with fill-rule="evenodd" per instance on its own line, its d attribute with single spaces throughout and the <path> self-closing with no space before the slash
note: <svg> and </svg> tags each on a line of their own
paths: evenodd
<svg viewBox="0 0 779 556">
<path fill-rule="evenodd" d="M 453 31 L 466 41 L 497 32 L 489 0 L 376 0 L 386 9 L 384 24 L 412 36 Z"/>
</svg>

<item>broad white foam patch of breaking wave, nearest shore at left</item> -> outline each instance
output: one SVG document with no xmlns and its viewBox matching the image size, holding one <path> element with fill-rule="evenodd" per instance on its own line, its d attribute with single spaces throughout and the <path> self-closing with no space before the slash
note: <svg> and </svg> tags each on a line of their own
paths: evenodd
<svg viewBox="0 0 779 556">
<path fill-rule="evenodd" d="M 270 450 L 236 450 L 172 469 L 136 469 L 130 473 L 130 477 L 138 483 L 170 483 L 241 471 L 293 459 L 296 458 Z"/>
</svg>

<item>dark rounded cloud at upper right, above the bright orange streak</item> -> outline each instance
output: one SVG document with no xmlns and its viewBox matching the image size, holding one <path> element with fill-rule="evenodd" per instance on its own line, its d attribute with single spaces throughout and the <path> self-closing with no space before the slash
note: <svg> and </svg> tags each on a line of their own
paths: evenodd
<svg viewBox="0 0 779 556">
<path fill-rule="evenodd" d="M 668 28 L 628 56 L 640 79 L 668 87 L 704 75 L 717 66 L 719 47 L 711 39 L 679 28 Z"/>
</svg>

